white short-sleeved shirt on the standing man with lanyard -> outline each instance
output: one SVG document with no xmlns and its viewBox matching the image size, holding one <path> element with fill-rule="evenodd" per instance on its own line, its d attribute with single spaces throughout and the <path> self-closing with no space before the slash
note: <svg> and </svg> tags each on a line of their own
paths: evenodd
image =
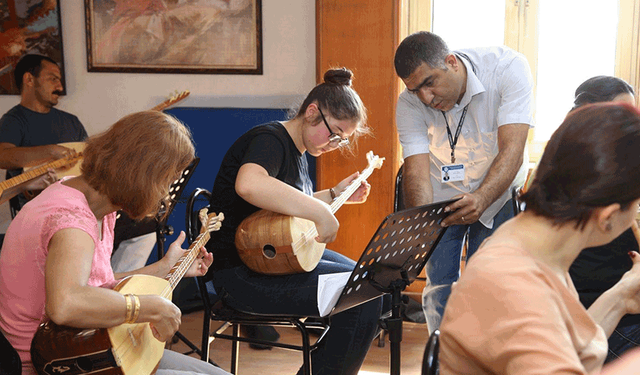
<svg viewBox="0 0 640 375">
<path fill-rule="evenodd" d="M 482 184 L 498 155 L 498 127 L 533 123 L 533 78 L 525 57 L 507 47 L 474 48 L 459 51 L 467 69 L 467 89 L 459 104 L 445 112 L 455 135 L 464 107 L 469 109 L 455 147 L 456 163 L 465 166 L 465 178 L 459 182 L 441 182 L 440 168 L 451 164 L 451 146 L 442 112 L 428 107 L 417 95 L 404 90 L 396 107 L 396 126 L 403 156 L 430 154 L 431 185 L 434 202 L 469 193 Z M 472 65 L 473 64 L 473 65 Z M 474 73 L 475 70 L 475 73 Z M 528 158 L 511 184 L 524 183 Z M 493 217 L 510 198 L 507 189 L 480 216 L 487 228 Z"/>
</svg>

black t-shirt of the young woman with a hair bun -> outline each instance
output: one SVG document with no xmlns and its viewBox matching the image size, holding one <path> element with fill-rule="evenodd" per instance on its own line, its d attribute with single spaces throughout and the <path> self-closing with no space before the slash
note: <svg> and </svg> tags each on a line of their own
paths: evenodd
<svg viewBox="0 0 640 375">
<path fill-rule="evenodd" d="M 247 163 L 258 164 L 269 176 L 305 194 L 313 194 L 307 159 L 298 151 L 284 125 L 279 122 L 258 125 L 243 134 L 222 159 L 211 190 L 209 212 L 222 212 L 225 217 L 222 227 L 211 234 L 207 244 L 214 256 L 212 270 L 242 264 L 234 244 L 236 229 L 242 220 L 259 210 L 235 190 L 238 170 Z"/>
</svg>

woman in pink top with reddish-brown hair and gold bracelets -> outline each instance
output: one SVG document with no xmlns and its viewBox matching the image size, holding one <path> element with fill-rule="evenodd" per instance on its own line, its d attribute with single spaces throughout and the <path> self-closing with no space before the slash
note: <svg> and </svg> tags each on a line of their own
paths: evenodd
<svg viewBox="0 0 640 375">
<path fill-rule="evenodd" d="M 171 301 L 153 294 L 127 297 L 112 287 L 133 274 L 164 278 L 184 254 L 184 232 L 158 262 L 114 274 L 113 230 L 118 210 L 134 219 L 156 215 L 194 154 L 189 130 L 173 117 L 131 114 L 87 141 L 81 176 L 50 185 L 16 215 L 0 253 L 0 330 L 18 351 L 23 375 L 35 374 L 31 341 L 48 319 L 76 328 L 149 322 L 157 340 L 173 337 L 181 313 Z M 130 173 L 123 175 L 123 168 Z M 201 248 L 186 276 L 203 276 L 211 262 Z M 157 374 L 226 372 L 165 350 Z"/>
</svg>

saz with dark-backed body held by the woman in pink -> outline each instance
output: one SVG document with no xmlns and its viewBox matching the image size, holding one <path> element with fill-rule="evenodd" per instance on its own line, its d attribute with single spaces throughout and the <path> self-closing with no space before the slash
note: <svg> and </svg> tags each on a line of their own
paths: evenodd
<svg viewBox="0 0 640 375">
<path fill-rule="evenodd" d="M 171 299 L 173 289 L 209 241 L 209 232 L 220 229 L 224 215 L 200 211 L 202 230 L 188 251 L 161 279 L 129 276 L 114 288 L 122 294 L 156 294 Z M 149 323 L 121 324 L 113 328 L 81 329 L 42 323 L 31 342 L 31 360 L 40 375 L 125 374 L 148 375 L 157 370 L 164 342 L 151 333 Z"/>
</svg>

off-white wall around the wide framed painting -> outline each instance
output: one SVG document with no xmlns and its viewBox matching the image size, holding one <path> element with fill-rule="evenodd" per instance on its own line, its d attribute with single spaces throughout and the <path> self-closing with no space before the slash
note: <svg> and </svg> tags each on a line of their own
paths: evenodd
<svg viewBox="0 0 640 375">
<path fill-rule="evenodd" d="M 89 135 L 175 90 L 191 92 L 178 106 L 289 108 L 315 85 L 314 0 L 262 0 L 262 75 L 89 73 L 84 0 L 62 0 L 60 7 L 67 95 L 57 108 L 78 116 Z M 0 114 L 19 102 L 19 96 L 0 96 Z M 0 170 L 0 180 L 4 174 Z M 4 204 L 0 233 L 9 218 Z"/>
</svg>

